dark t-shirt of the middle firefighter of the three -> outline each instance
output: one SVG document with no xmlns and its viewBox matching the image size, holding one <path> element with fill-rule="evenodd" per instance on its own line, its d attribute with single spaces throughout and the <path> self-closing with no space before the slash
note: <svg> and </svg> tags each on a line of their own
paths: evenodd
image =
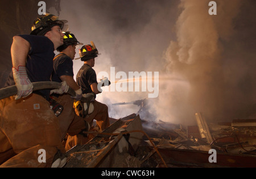
<svg viewBox="0 0 256 179">
<path fill-rule="evenodd" d="M 64 53 L 60 53 L 53 60 L 53 73 L 52 73 L 52 81 L 62 82 L 60 80 L 60 76 L 74 76 L 73 73 L 73 61 L 72 59 L 65 55 Z"/>
</svg>

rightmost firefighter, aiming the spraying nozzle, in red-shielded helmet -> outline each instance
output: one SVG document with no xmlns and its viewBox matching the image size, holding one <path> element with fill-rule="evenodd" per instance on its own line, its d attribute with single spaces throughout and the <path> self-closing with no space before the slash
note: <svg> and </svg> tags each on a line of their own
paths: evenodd
<svg viewBox="0 0 256 179">
<path fill-rule="evenodd" d="M 108 86 L 110 82 L 108 78 L 104 78 L 99 83 L 97 82 L 97 76 L 93 66 L 95 64 L 95 58 L 98 56 L 98 50 L 92 41 L 91 44 L 84 45 L 79 52 L 79 59 L 84 61 L 84 65 L 82 65 L 77 73 L 76 82 L 81 86 L 83 98 L 81 101 L 74 103 L 74 108 L 77 115 L 84 117 L 90 126 L 93 125 L 93 119 L 96 120 L 99 131 L 103 131 L 110 125 L 108 106 L 96 101 L 96 94 L 102 92 L 101 86 Z M 67 143 L 69 143 L 69 147 L 84 143 L 83 137 L 82 135 L 76 135 L 75 138 L 68 138 Z"/>
</svg>

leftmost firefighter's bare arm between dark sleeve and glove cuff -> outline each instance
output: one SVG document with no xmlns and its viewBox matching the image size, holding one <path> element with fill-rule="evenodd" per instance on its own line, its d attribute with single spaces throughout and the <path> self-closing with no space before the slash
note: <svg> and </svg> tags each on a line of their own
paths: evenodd
<svg viewBox="0 0 256 179">
<path fill-rule="evenodd" d="M 18 69 L 18 66 L 26 66 L 28 52 L 30 51 L 30 43 L 20 36 L 14 36 L 13 44 L 11 45 L 11 59 L 13 67 Z"/>
</svg>

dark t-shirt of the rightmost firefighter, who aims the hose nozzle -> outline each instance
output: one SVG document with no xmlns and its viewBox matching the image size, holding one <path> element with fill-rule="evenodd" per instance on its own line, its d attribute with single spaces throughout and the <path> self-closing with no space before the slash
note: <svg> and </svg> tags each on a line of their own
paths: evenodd
<svg viewBox="0 0 256 179">
<path fill-rule="evenodd" d="M 82 65 L 76 76 L 76 82 L 81 86 L 82 94 L 92 93 L 90 85 L 97 83 L 96 72 L 88 64 Z M 98 84 L 98 83 L 97 83 Z"/>
</svg>

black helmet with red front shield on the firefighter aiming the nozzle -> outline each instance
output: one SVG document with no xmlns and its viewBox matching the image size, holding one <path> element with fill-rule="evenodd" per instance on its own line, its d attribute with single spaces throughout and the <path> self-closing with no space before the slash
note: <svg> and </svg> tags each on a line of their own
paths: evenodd
<svg viewBox="0 0 256 179">
<path fill-rule="evenodd" d="M 87 61 L 96 58 L 99 53 L 93 41 L 90 41 L 90 44 L 84 45 L 79 49 L 79 55 L 80 58 L 78 59 L 81 59 L 81 61 Z"/>
</svg>

